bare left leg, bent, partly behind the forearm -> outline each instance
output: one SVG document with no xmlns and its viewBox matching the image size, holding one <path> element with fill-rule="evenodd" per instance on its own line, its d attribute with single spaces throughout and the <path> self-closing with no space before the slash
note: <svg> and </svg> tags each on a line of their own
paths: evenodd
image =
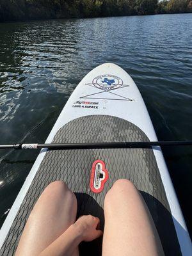
<svg viewBox="0 0 192 256">
<path fill-rule="evenodd" d="M 49 184 L 29 215 L 15 256 L 38 255 L 76 221 L 76 214 L 76 196 L 67 185 L 62 181 Z"/>
</svg>

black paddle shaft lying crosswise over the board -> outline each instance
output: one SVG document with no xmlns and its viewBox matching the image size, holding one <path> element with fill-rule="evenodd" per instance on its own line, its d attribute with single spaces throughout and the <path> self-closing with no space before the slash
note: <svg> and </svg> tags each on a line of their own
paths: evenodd
<svg viewBox="0 0 192 256">
<path fill-rule="evenodd" d="M 136 142 L 102 142 L 102 143 L 68 143 L 68 144 L 14 144 L 0 145 L 0 149 L 36 149 L 49 150 L 91 149 L 91 148 L 150 148 L 152 146 L 184 146 L 192 145 L 192 141 L 136 141 Z"/>
</svg>

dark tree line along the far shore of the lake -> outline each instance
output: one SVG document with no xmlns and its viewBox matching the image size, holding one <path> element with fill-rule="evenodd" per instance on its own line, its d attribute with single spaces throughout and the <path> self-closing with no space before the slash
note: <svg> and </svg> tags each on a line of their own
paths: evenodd
<svg viewBox="0 0 192 256">
<path fill-rule="evenodd" d="M 192 12 L 192 0 L 0 0 L 0 21 Z"/>
</svg>

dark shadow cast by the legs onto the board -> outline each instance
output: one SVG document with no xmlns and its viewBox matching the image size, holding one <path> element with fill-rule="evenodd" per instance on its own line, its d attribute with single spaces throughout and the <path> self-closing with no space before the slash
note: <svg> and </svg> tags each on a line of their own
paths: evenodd
<svg viewBox="0 0 192 256">
<path fill-rule="evenodd" d="M 177 240 L 175 227 L 173 224 L 172 215 L 154 196 L 140 191 L 143 196 L 148 209 L 152 215 L 157 232 L 161 239 L 165 255 L 179 256 L 180 246 Z M 92 214 L 100 218 L 100 229 L 104 230 L 104 210 L 92 196 L 86 193 L 76 193 L 77 197 L 77 218 L 81 215 Z M 177 227 L 179 227 L 180 234 L 185 234 L 186 230 L 174 220 Z M 90 243 L 81 243 L 79 246 L 80 255 L 102 255 L 102 238 L 96 239 Z"/>
</svg>

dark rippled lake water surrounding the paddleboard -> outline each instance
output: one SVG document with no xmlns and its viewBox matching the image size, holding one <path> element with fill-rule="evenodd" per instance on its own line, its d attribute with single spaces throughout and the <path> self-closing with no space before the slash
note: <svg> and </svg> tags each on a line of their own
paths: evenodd
<svg viewBox="0 0 192 256">
<path fill-rule="evenodd" d="M 159 140 L 192 140 L 192 14 L 0 24 L 0 143 L 44 143 L 76 85 L 113 62 L 134 79 Z M 189 228 L 192 148 L 163 150 Z M 1 225 L 38 152 L 0 152 Z"/>
</svg>

